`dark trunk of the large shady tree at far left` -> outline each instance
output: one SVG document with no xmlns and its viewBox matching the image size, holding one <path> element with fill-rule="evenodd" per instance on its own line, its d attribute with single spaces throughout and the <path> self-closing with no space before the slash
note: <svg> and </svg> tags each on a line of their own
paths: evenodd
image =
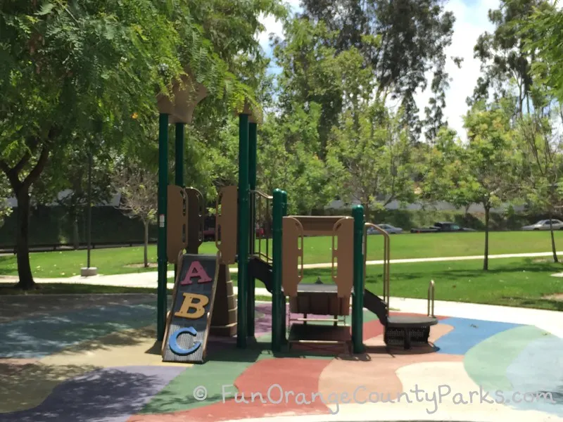
<svg viewBox="0 0 563 422">
<path fill-rule="evenodd" d="M 16 252 L 18 254 L 18 276 L 20 281 L 16 288 L 31 290 L 35 287 L 30 265 L 30 193 L 21 186 L 15 193 L 18 200 L 18 231 L 16 235 Z"/>
</svg>

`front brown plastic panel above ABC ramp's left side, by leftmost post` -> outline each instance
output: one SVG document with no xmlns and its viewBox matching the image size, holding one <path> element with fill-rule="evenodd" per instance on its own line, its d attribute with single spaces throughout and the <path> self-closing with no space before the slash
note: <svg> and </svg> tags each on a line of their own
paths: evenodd
<svg viewBox="0 0 563 422">
<path fill-rule="evenodd" d="M 180 186 L 168 185 L 167 195 L 166 257 L 176 264 L 178 253 L 186 248 L 188 240 L 186 193 Z"/>
</svg>

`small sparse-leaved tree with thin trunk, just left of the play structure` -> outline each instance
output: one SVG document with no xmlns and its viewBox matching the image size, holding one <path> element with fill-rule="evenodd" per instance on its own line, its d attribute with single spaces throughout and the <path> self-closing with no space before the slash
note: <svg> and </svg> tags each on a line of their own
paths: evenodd
<svg viewBox="0 0 563 422">
<path fill-rule="evenodd" d="M 144 267 L 148 267 L 148 226 L 156 223 L 158 174 L 140 162 L 130 163 L 115 173 L 113 186 L 120 193 L 118 208 L 129 218 L 140 219 L 144 227 Z"/>
</svg>

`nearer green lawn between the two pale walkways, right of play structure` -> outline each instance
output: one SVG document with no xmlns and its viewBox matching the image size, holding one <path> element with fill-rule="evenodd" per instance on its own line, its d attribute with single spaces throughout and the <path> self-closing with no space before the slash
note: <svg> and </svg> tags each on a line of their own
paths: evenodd
<svg viewBox="0 0 563 422">
<path fill-rule="evenodd" d="M 551 276 L 562 272 L 563 264 L 514 258 L 490 261 L 488 271 L 482 268 L 481 260 L 391 264 L 391 296 L 426 299 L 429 282 L 434 280 L 436 300 L 563 311 L 563 298 L 547 298 L 563 294 L 563 279 Z M 383 293 L 382 269 L 381 265 L 367 267 L 367 289 L 377 295 Z M 330 269 L 305 269 L 304 275 L 305 283 L 314 283 L 317 278 L 332 283 Z M 236 284 L 236 274 L 231 274 L 231 278 Z M 263 284 L 257 281 L 256 286 L 263 287 Z"/>
</svg>

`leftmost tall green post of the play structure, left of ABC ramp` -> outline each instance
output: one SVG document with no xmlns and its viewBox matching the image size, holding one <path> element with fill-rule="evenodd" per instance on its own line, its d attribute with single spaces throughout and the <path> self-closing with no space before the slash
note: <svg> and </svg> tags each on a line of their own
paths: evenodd
<svg viewBox="0 0 563 422">
<path fill-rule="evenodd" d="M 156 304 L 156 337 L 163 340 L 166 325 L 166 214 L 168 188 L 168 115 L 158 118 L 158 288 Z"/>
</svg>

